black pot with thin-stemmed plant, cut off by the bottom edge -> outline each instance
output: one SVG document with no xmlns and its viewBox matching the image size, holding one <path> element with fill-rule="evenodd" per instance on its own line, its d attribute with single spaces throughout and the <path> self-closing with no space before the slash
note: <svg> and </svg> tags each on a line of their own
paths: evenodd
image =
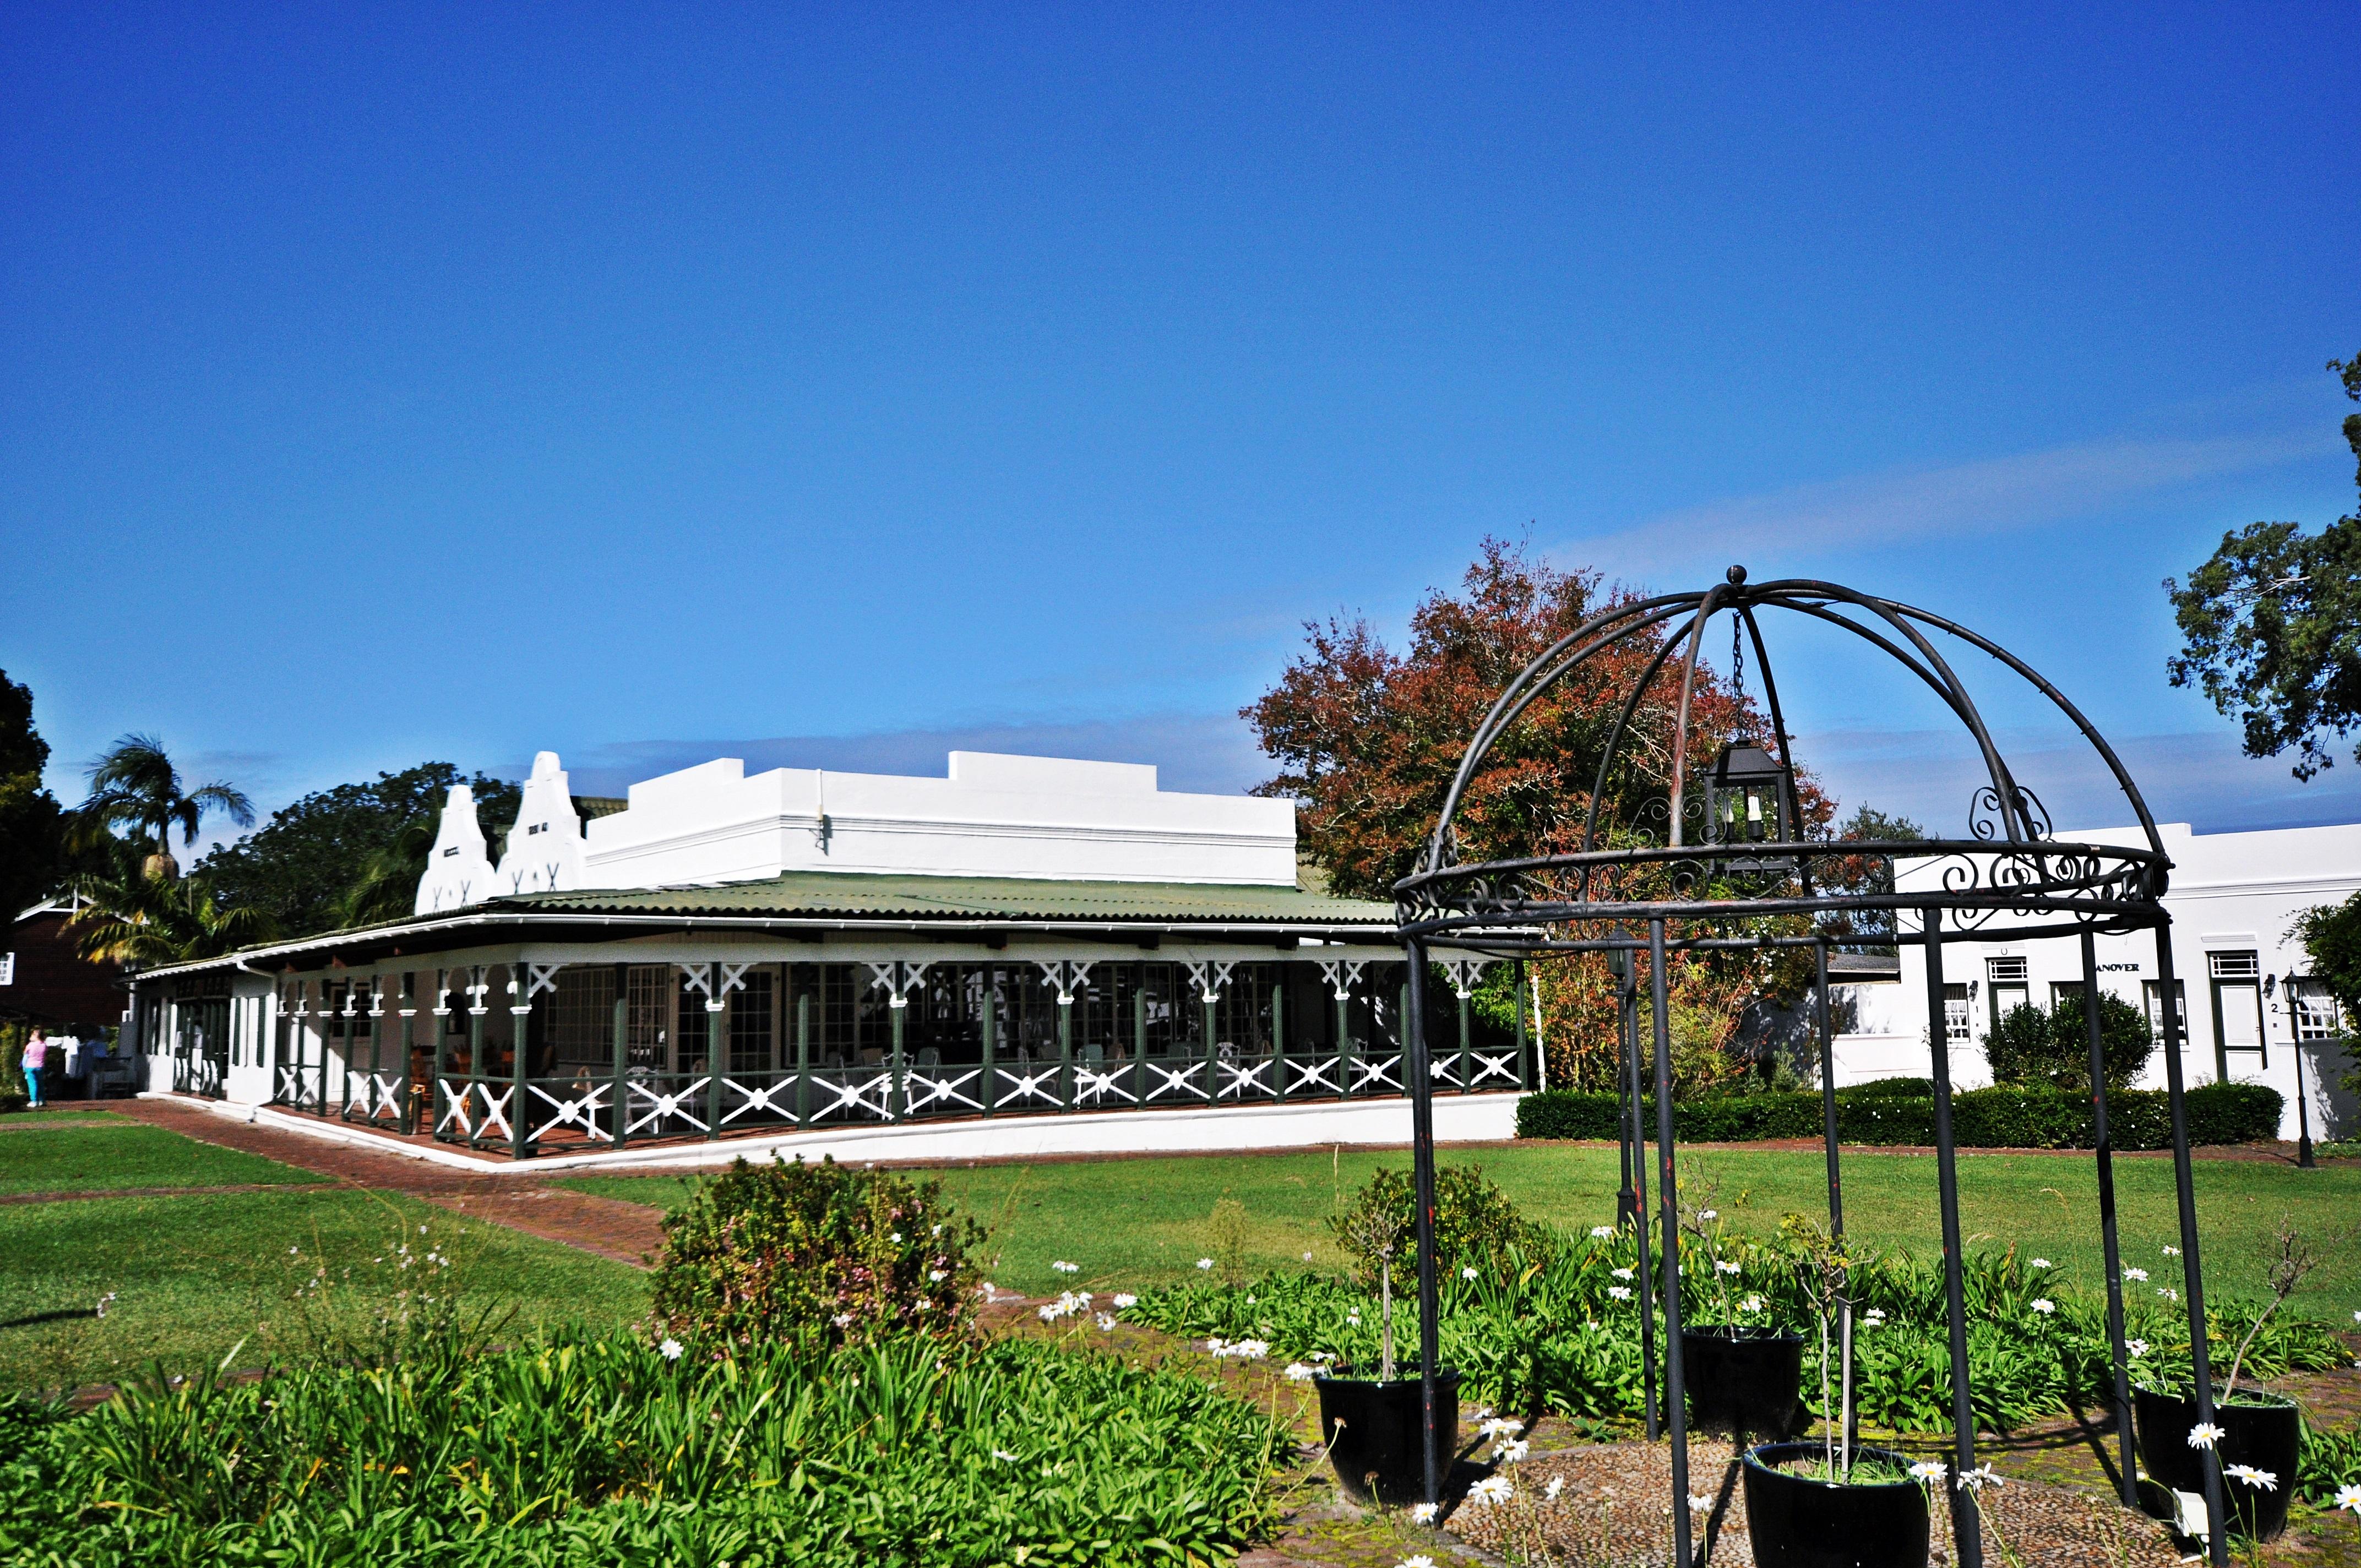
<svg viewBox="0 0 2361 1568">
<path fill-rule="evenodd" d="M 1820 1440 L 1759 1443 L 1745 1455 L 1747 1535 L 1757 1568 L 1927 1568 L 1927 1488 L 1943 1466 L 1853 1448 L 1853 1256 L 1801 1214 L 1780 1221 L 1806 1263 L 1820 1327 Z M 1830 1320 L 1837 1355 L 1830 1355 Z M 1839 1365 L 1834 1398 L 1827 1367 Z"/>
</svg>

